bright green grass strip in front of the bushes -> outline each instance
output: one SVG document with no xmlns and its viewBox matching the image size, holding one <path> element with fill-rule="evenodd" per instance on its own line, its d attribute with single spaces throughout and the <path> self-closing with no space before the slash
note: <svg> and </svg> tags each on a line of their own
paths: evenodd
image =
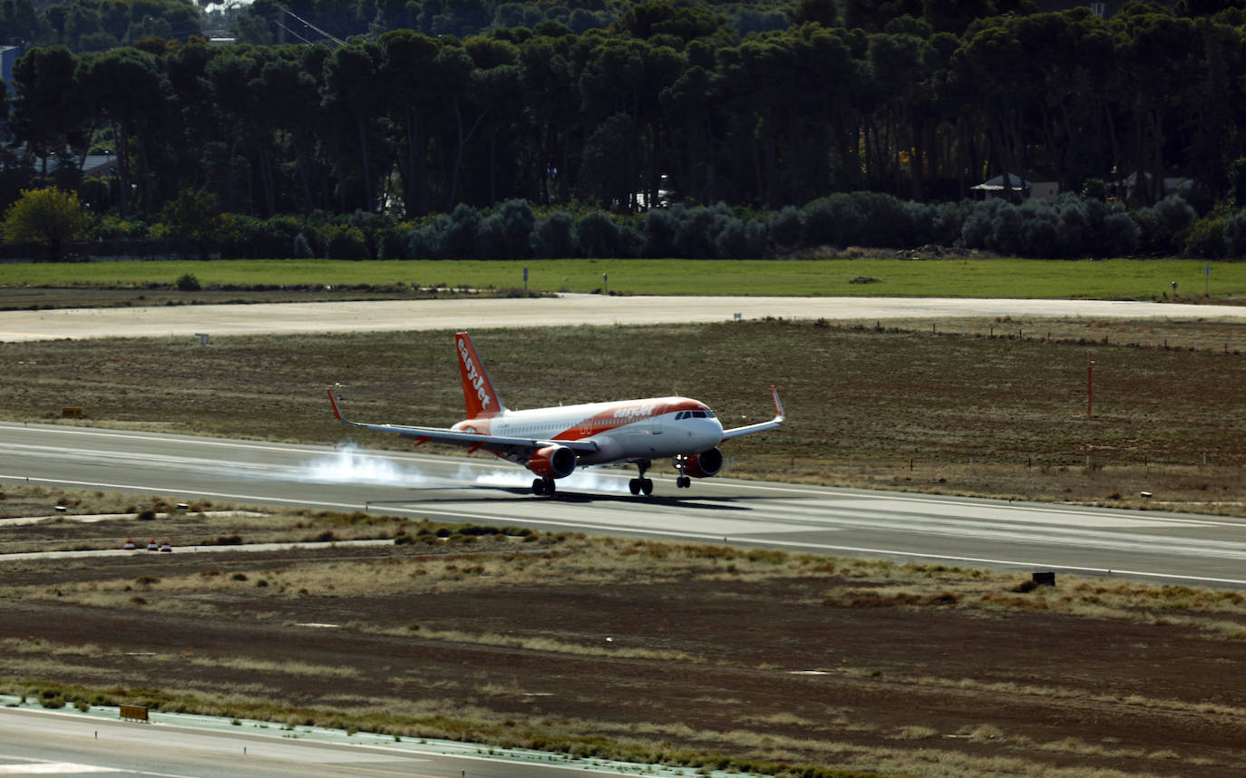
<svg viewBox="0 0 1246 778">
<path fill-rule="evenodd" d="M 1246 295 L 1246 263 L 1192 259 L 531 259 L 510 262 L 341 262 L 260 259 L 0 264 L 0 288 L 173 284 L 191 273 L 212 284 L 374 284 L 623 294 L 900 295 L 1151 299 Z M 608 276 L 608 283 L 603 282 Z M 872 283 L 854 283 L 862 278 Z M 1205 284 L 1205 281 L 1207 282 Z"/>
</svg>

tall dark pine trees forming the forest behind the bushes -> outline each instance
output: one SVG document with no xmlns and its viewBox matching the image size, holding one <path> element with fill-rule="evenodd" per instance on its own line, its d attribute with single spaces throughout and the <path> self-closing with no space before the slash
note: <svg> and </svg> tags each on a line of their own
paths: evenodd
<svg viewBox="0 0 1246 778">
<path fill-rule="evenodd" d="M 24 143 L 0 153 L 0 206 L 57 183 L 148 219 L 184 191 L 263 219 L 511 199 L 779 212 L 832 192 L 961 201 L 1029 170 L 1064 191 L 1134 173 L 1143 206 L 1189 176 L 1200 216 L 1246 204 L 1236 7 L 1130 2 L 1105 21 L 1009 0 L 800 0 L 785 29 L 741 37 L 721 14 L 655 0 L 608 29 L 543 19 L 460 37 L 425 24 L 431 2 L 405 17 L 426 31 L 344 45 L 32 49 L 0 100 Z M 507 12 L 528 21 L 522 7 Z M 105 151 L 115 173 L 82 180 Z"/>
</svg>

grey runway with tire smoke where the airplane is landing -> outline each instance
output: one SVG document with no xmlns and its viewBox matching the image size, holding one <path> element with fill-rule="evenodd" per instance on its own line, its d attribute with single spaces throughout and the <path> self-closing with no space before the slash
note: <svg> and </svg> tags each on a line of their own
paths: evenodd
<svg viewBox="0 0 1246 778">
<path fill-rule="evenodd" d="M 0 424 L 0 484 L 1246 586 L 1242 519 L 723 478 L 679 490 L 659 478 L 652 497 L 634 497 L 633 473 L 579 471 L 549 500 L 527 494 L 530 473 L 492 459 Z"/>
</svg>

